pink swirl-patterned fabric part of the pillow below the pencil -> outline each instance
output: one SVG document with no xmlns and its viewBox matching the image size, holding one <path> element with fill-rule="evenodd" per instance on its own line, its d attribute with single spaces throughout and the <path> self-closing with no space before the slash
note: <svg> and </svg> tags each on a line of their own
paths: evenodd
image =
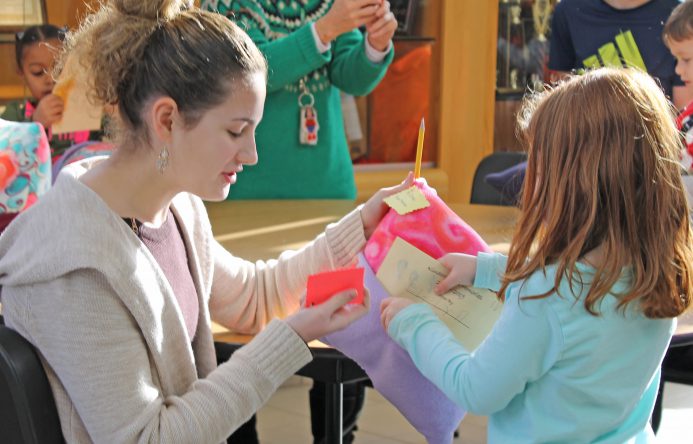
<svg viewBox="0 0 693 444">
<path fill-rule="evenodd" d="M 490 252 L 486 242 L 438 197 L 423 181 L 415 184 L 430 206 L 400 216 L 395 210 L 385 215 L 366 244 L 363 255 L 376 273 L 396 237 L 414 245 L 435 259 L 445 253 Z"/>
</svg>

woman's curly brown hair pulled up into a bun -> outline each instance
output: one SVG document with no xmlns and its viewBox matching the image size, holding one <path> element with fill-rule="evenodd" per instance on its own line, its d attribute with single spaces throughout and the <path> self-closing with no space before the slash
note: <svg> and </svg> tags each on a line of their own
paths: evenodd
<svg viewBox="0 0 693 444">
<path fill-rule="evenodd" d="M 192 0 L 109 0 L 68 34 L 65 46 L 62 61 L 74 56 L 88 72 L 90 98 L 117 104 L 126 137 L 145 141 L 149 100 L 171 97 L 191 127 L 226 100 L 235 81 L 267 74 L 245 32 Z"/>
</svg>

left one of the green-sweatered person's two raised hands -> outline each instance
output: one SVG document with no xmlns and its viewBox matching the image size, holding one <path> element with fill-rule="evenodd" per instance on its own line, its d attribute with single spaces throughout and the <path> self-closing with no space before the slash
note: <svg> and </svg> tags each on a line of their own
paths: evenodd
<svg viewBox="0 0 693 444">
<path fill-rule="evenodd" d="M 330 43 L 352 29 L 373 19 L 382 0 L 335 0 L 327 14 L 315 22 L 315 31 L 323 43 Z"/>
</svg>

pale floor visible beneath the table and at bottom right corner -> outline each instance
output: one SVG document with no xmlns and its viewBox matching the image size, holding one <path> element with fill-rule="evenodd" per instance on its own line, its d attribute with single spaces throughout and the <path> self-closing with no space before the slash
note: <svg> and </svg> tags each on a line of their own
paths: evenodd
<svg viewBox="0 0 693 444">
<path fill-rule="evenodd" d="M 310 381 L 295 377 L 258 413 L 261 444 L 311 444 L 308 390 Z M 366 390 L 366 403 L 358 421 L 355 444 L 420 444 L 423 437 L 378 392 Z M 486 442 L 486 418 L 467 415 L 455 444 Z M 662 424 L 657 442 L 693 442 L 693 387 L 667 384 Z"/>
</svg>

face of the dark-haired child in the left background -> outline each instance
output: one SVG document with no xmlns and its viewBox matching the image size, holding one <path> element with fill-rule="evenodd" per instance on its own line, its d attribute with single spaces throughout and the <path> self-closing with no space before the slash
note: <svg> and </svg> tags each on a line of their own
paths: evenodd
<svg viewBox="0 0 693 444">
<path fill-rule="evenodd" d="M 62 43 L 58 39 L 29 44 L 22 50 L 19 75 L 24 78 L 31 96 L 41 100 L 53 91 L 53 67 Z"/>
</svg>

